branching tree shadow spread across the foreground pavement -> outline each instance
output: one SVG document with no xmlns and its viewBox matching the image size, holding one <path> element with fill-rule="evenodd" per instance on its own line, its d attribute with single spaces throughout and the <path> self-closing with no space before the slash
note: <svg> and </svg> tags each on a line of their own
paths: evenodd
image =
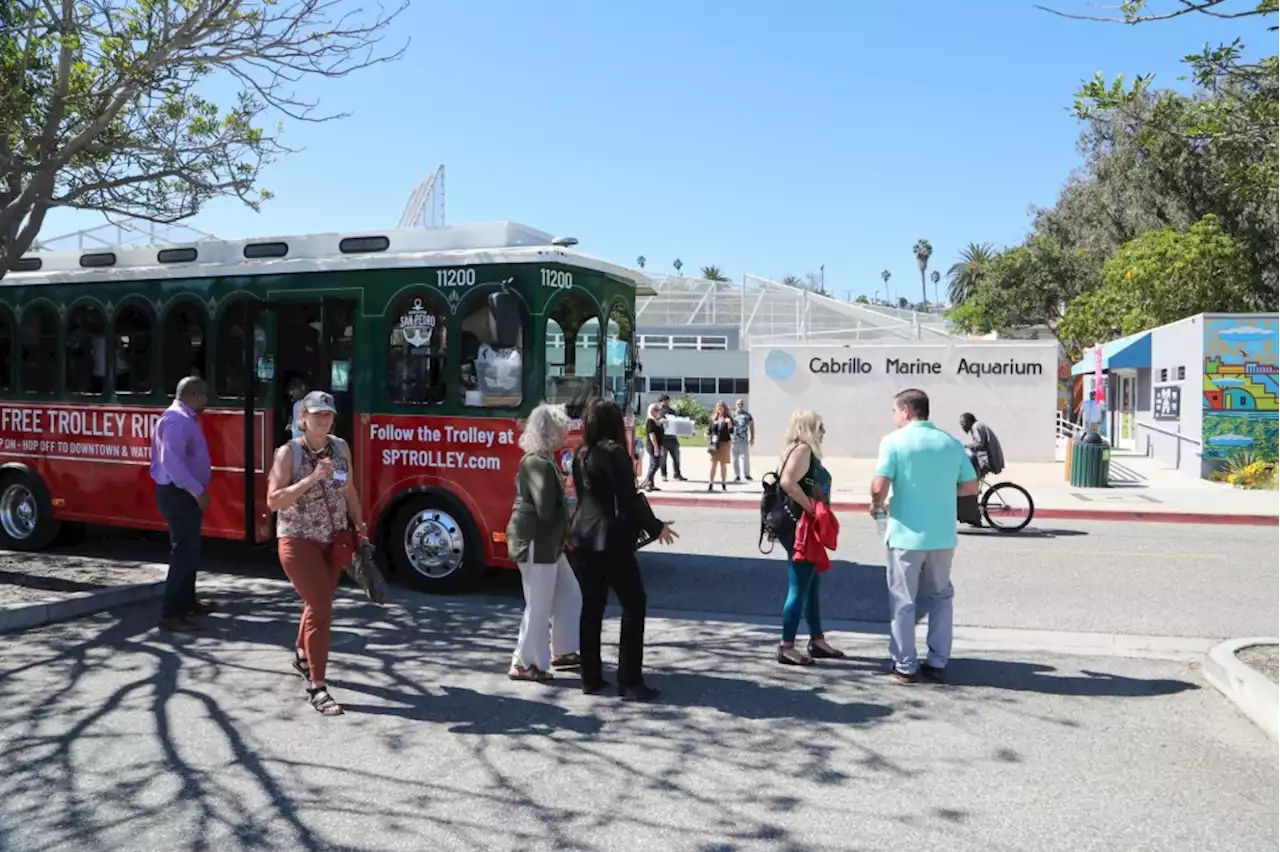
<svg viewBox="0 0 1280 852">
<path fill-rule="evenodd" d="M 402 588 L 339 592 L 326 719 L 289 669 L 294 592 L 228 582 L 202 635 L 150 604 L 0 637 L 9 848 L 603 851 L 664 832 L 655 802 L 695 846 L 799 848 L 797 785 L 914 771 L 861 738 L 893 709 L 856 678 L 760 678 L 758 646 L 695 636 L 650 650 L 662 704 L 512 683 L 518 601 Z"/>
</svg>

